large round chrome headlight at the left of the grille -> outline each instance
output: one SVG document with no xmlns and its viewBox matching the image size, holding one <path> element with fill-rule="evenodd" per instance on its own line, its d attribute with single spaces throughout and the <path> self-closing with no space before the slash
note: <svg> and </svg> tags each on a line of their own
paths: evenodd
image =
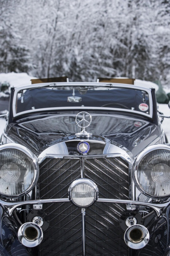
<svg viewBox="0 0 170 256">
<path fill-rule="evenodd" d="M 26 147 L 9 143 L 0 146 L 0 194 L 7 197 L 29 192 L 37 182 L 37 159 Z"/>
</svg>

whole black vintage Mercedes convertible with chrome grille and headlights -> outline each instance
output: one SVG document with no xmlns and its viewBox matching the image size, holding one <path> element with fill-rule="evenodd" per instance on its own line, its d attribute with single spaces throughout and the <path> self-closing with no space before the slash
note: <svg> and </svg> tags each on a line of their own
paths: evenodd
<svg viewBox="0 0 170 256">
<path fill-rule="evenodd" d="M 11 88 L 0 256 L 170 255 L 170 146 L 155 89 L 39 82 Z"/>
</svg>

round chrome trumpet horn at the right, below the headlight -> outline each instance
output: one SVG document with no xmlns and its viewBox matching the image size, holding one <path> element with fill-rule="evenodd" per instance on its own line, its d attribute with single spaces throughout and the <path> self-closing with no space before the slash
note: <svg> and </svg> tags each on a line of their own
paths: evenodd
<svg viewBox="0 0 170 256">
<path fill-rule="evenodd" d="M 150 235 L 143 225 L 131 225 L 125 231 L 125 243 L 132 249 L 141 249 L 147 245 Z"/>
</svg>

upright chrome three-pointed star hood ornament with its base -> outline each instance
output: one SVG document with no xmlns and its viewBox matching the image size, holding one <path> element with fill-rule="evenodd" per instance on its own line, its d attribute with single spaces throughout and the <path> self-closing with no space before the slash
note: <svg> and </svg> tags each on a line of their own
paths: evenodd
<svg viewBox="0 0 170 256">
<path fill-rule="evenodd" d="M 91 137 L 93 134 L 88 133 L 85 128 L 91 124 L 91 115 L 88 112 L 82 111 L 79 112 L 76 116 L 76 124 L 82 128 L 82 131 L 77 133 L 76 136 L 80 138 Z"/>
</svg>

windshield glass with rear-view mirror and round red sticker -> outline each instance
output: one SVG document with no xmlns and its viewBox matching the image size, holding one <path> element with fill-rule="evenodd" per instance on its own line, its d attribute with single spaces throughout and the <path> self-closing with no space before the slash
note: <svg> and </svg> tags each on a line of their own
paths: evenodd
<svg viewBox="0 0 170 256">
<path fill-rule="evenodd" d="M 37 87 L 17 93 L 16 113 L 44 108 L 103 107 L 150 113 L 144 90 L 122 87 Z"/>
</svg>

